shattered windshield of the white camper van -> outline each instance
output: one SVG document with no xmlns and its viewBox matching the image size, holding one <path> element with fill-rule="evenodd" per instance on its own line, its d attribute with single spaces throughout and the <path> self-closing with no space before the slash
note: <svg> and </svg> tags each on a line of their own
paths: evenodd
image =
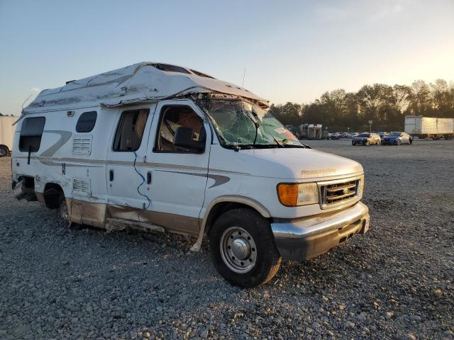
<svg viewBox="0 0 454 340">
<path fill-rule="evenodd" d="M 197 103 L 214 125 L 224 147 L 304 147 L 267 110 L 239 99 L 204 99 Z"/>
</svg>

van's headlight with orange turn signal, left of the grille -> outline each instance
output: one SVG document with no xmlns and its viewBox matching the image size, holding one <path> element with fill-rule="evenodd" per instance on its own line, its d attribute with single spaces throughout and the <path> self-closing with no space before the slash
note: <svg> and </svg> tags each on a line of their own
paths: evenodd
<svg viewBox="0 0 454 340">
<path fill-rule="evenodd" d="M 280 183 L 277 196 L 286 207 L 319 203 L 319 187 L 316 183 Z"/>
</svg>

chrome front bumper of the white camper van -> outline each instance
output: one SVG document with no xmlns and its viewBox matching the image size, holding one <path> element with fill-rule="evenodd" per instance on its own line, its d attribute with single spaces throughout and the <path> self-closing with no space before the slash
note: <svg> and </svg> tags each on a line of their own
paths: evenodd
<svg viewBox="0 0 454 340">
<path fill-rule="evenodd" d="M 361 202 L 331 214 L 273 222 L 272 233 L 284 260 L 303 261 L 319 256 L 369 229 L 369 208 Z"/>
</svg>

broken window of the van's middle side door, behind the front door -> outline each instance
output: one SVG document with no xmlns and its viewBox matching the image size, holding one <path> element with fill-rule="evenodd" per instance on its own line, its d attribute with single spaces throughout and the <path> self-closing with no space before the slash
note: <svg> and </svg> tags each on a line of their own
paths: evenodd
<svg viewBox="0 0 454 340">
<path fill-rule="evenodd" d="M 136 151 L 142 142 L 147 123 L 148 108 L 121 113 L 114 139 L 114 151 Z"/>
</svg>

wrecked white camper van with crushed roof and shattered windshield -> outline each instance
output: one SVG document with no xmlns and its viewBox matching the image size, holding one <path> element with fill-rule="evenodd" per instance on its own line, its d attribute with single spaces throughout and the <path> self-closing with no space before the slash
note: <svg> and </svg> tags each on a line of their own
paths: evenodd
<svg viewBox="0 0 454 340">
<path fill-rule="evenodd" d="M 209 239 L 221 276 L 266 283 L 281 259 L 369 228 L 362 166 L 301 144 L 239 86 L 142 62 L 42 91 L 16 124 L 13 188 L 73 223 Z"/>
</svg>

